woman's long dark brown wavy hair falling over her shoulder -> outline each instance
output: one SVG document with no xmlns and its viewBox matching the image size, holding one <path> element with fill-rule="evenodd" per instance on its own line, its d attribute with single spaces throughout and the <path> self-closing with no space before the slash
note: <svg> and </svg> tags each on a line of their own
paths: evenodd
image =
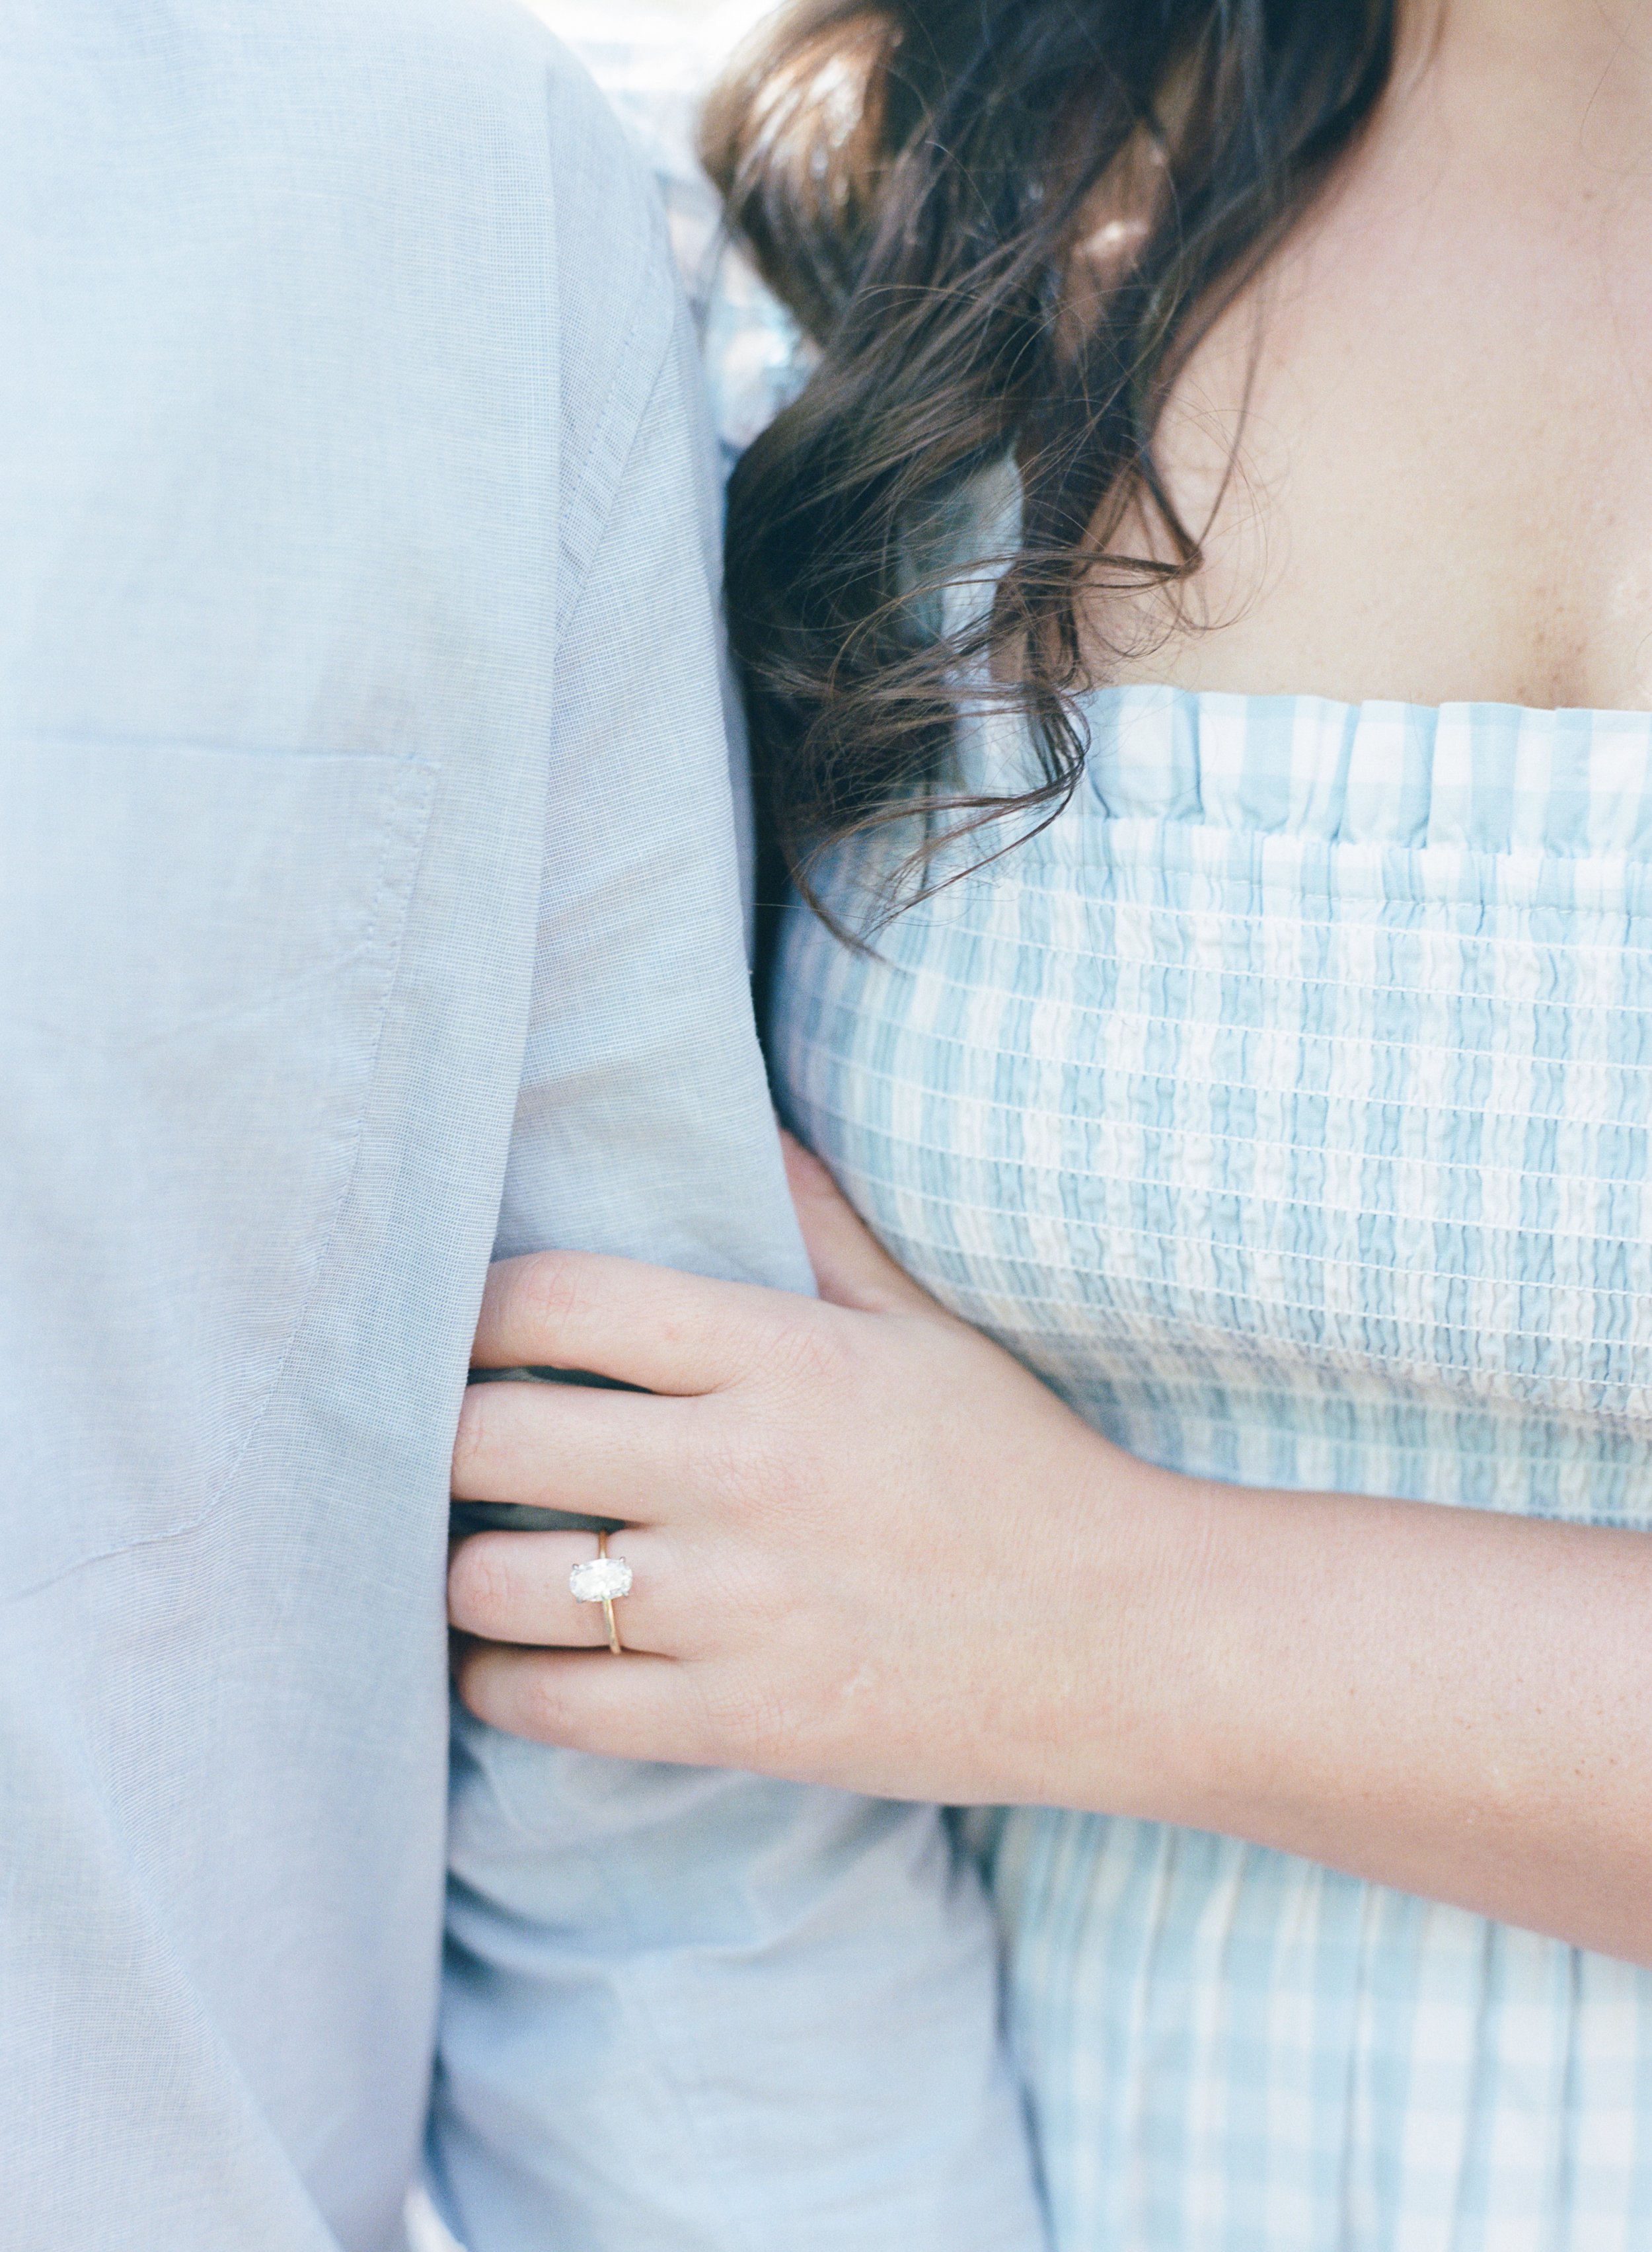
<svg viewBox="0 0 1652 2252">
<path fill-rule="evenodd" d="M 894 908 L 945 835 L 1071 795 L 1107 655 L 1080 601 L 1175 599 L 1200 568 L 1155 426 L 1371 117 L 1393 11 L 799 0 L 711 97 L 729 223 L 819 356 L 738 464 L 727 540 L 761 806 L 817 905 L 835 840 L 921 817 Z M 997 592 L 959 619 L 959 502 L 1006 462 L 1020 527 L 972 558 Z M 948 793 L 961 680 L 1024 712 L 1026 795 Z"/>
</svg>

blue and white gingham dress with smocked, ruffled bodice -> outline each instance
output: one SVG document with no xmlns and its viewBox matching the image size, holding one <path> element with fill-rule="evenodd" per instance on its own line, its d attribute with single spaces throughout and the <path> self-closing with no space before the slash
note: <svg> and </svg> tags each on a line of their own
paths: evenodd
<svg viewBox="0 0 1652 2252">
<path fill-rule="evenodd" d="M 803 1140 L 1150 1462 L 1647 1527 L 1652 716 L 1132 687 L 1092 727 L 1056 824 L 876 959 L 794 910 Z M 1647 1973 L 1229 1838 L 972 1829 L 1060 2252 L 1652 2245 Z"/>
</svg>

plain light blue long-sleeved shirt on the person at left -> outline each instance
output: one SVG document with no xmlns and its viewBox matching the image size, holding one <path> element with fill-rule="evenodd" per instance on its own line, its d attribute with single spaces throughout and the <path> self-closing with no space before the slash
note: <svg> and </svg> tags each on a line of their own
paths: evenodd
<svg viewBox="0 0 1652 2252">
<path fill-rule="evenodd" d="M 0 2238 L 378 2252 L 486 1261 L 808 1286 L 691 345 L 486 0 L 14 0 L 0 336 Z M 452 1865 L 473 2252 L 1035 2243 L 932 1811 L 466 1730 Z"/>
</svg>

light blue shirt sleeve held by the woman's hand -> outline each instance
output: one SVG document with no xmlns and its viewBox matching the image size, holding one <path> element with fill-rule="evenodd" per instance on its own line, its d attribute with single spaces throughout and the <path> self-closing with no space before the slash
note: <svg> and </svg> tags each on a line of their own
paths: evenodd
<svg viewBox="0 0 1652 2252">
<path fill-rule="evenodd" d="M 747 989 L 711 441 L 662 241 L 617 329 L 583 374 L 594 327 L 565 342 L 599 405 L 567 417 L 497 1252 L 808 1288 Z M 943 1817 L 459 1714 L 430 2164 L 470 2252 L 1042 2243 L 995 1932 Z"/>
</svg>

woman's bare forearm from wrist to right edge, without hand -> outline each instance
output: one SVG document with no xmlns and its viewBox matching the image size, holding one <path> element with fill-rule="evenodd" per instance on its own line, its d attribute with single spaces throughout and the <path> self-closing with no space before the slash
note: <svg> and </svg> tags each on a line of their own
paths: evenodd
<svg viewBox="0 0 1652 2252">
<path fill-rule="evenodd" d="M 1652 1540 L 1103 1475 L 1051 1797 L 1652 1961 Z"/>
</svg>

